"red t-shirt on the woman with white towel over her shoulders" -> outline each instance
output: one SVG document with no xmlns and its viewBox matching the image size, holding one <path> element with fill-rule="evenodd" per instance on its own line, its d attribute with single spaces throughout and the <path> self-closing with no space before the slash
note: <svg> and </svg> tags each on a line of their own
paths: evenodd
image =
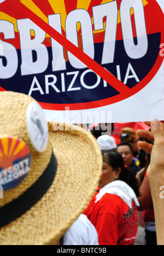
<svg viewBox="0 0 164 256">
<path fill-rule="evenodd" d="M 105 194 L 95 203 L 96 194 L 84 214 L 97 230 L 99 245 L 133 245 L 138 228 L 134 204 L 130 209 L 121 197 L 113 194 Z"/>
</svg>

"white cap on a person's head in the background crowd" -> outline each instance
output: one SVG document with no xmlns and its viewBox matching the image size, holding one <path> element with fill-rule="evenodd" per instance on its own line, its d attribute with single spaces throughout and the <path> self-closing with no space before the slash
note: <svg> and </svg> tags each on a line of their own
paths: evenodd
<svg viewBox="0 0 164 256">
<path fill-rule="evenodd" d="M 97 143 L 101 150 L 114 150 L 117 148 L 115 139 L 109 135 L 99 136 Z"/>
</svg>

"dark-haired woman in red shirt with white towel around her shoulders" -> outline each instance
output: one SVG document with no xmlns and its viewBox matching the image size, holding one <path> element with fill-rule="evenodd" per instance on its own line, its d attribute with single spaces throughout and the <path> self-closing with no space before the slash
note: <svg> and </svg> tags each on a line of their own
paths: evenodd
<svg viewBox="0 0 164 256">
<path fill-rule="evenodd" d="M 139 184 L 124 167 L 120 153 L 103 152 L 99 187 L 84 212 L 97 230 L 99 245 L 133 245 L 138 228 Z"/>
</svg>

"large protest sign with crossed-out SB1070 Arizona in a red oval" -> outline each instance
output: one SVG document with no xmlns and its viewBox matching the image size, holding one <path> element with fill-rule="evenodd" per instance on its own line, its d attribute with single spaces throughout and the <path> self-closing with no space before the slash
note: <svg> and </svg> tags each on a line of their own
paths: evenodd
<svg viewBox="0 0 164 256">
<path fill-rule="evenodd" d="M 48 120 L 163 119 L 163 5 L 3 1 L 1 90 L 36 98 Z"/>
</svg>

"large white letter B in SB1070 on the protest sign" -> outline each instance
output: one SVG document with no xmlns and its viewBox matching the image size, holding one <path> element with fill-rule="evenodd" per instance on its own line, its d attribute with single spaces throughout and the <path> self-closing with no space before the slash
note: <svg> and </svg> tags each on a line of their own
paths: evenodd
<svg viewBox="0 0 164 256">
<path fill-rule="evenodd" d="M 20 32 L 22 75 L 44 72 L 49 63 L 48 50 L 43 44 L 46 33 L 30 19 L 17 20 L 17 29 Z M 33 39 L 31 31 L 34 32 Z M 33 61 L 33 51 L 37 55 L 36 61 Z"/>
</svg>

